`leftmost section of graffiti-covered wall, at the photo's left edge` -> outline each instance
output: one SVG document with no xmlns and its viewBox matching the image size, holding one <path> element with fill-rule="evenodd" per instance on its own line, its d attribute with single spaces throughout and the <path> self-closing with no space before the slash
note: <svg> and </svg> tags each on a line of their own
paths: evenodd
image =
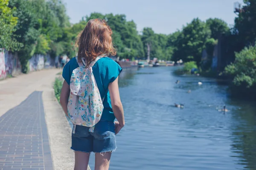
<svg viewBox="0 0 256 170">
<path fill-rule="evenodd" d="M 0 79 L 6 78 L 7 75 L 18 75 L 20 72 L 21 66 L 17 53 L 0 50 Z"/>
</svg>

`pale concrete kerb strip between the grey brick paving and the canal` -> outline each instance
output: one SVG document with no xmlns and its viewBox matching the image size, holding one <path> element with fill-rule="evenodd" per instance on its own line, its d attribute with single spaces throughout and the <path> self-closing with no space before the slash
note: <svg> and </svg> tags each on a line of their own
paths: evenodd
<svg viewBox="0 0 256 170">
<path fill-rule="evenodd" d="M 43 102 L 54 168 L 72 170 L 75 160 L 74 153 L 70 150 L 72 129 L 55 98 L 53 86 L 44 89 Z M 90 170 L 89 166 L 87 170 Z"/>
</svg>

